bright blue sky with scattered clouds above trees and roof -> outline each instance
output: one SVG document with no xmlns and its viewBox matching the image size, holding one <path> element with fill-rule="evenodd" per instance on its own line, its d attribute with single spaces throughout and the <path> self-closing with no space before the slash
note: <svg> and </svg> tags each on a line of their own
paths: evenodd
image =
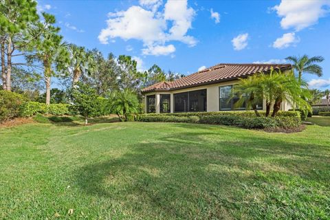
<svg viewBox="0 0 330 220">
<path fill-rule="evenodd" d="M 56 16 L 65 41 L 105 56 L 133 56 L 139 69 L 197 72 L 217 63 L 283 63 L 290 55 L 323 56 L 330 87 L 330 1 L 39 1 Z"/>
</svg>

